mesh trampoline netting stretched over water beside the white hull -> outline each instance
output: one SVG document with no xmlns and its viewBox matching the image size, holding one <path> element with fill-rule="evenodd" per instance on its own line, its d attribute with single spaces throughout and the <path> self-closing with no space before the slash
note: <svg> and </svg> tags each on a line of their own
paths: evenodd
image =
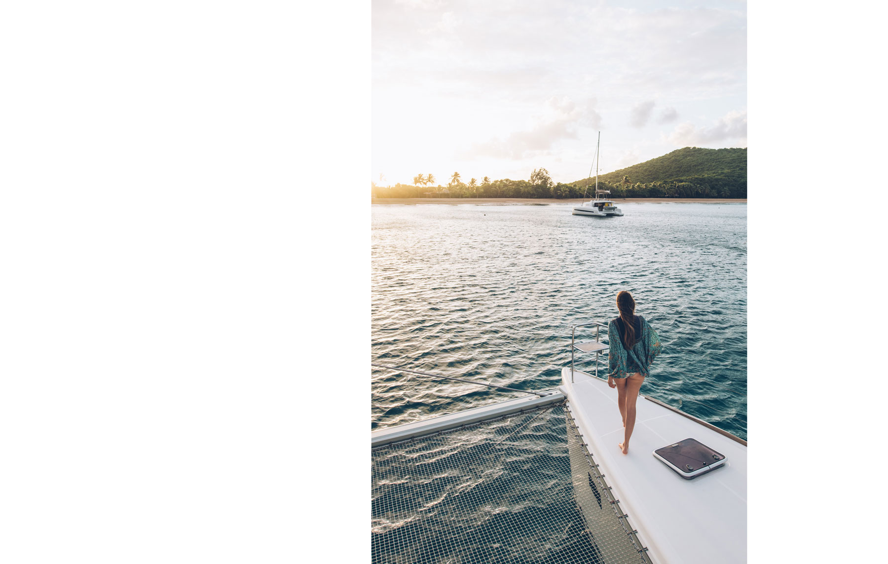
<svg viewBox="0 0 888 564">
<path fill-rule="evenodd" d="M 649 561 L 566 402 L 378 447 L 372 478 L 375 564 Z"/>
</svg>

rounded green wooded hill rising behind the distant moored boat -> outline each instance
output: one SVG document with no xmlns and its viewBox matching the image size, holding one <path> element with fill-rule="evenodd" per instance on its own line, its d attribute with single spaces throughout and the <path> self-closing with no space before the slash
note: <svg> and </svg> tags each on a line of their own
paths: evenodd
<svg viewBox="0 0 888 564">
<path fill-rule="evenodd" d="M 592 179 L 573 182 L 584 187 Z M 746 197 L 746 149 L 685 147 L 599 176 L 613 197 Z"/>
</svg>

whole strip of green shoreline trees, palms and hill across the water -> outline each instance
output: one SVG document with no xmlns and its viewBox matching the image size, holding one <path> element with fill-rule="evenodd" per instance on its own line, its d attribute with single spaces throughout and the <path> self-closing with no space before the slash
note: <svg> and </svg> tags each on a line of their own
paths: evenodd
<svg viewBox="0 0 888 564">
<path fill-rule="evenodd" d="M 612 198 L 745 198 L 745 148 L 706 149 L 685 147 L 645 163 L 599 176 L 599 188 Z M 545 169 L 535 169 L 530 179 L 491 180 L 484 177 L 464 182 L 458 172 L 448 184 L 437 183 L 432 174 L 418 174 L 413 184 L 377 186 L 376 198 L 582 198 L 594 195 L 595 179 L 565 184 L 553 182 Z"/>
</svg>

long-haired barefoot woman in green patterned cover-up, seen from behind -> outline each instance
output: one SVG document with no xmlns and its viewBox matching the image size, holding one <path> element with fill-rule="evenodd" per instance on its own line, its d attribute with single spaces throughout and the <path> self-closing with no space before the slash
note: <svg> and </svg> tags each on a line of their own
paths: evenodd
<svg viewBox="0 0 888 564">
<path fill-rule="evenodd" d="M 625 455 L 629 454 L 629 438 L 635 428 L 638 390 L 662 346 L 657 332 L 645 318 L 635 314 L 635 300 L 629 292 L 623 290 L 616 295 L 616 308 L 620 311 L 620 316 L 607 324 L 610 342 L 607 385 L 616 388 L 616 402 L 620 408 L 622 426 L 626 429 L 619 447 Z"/>
</svg>

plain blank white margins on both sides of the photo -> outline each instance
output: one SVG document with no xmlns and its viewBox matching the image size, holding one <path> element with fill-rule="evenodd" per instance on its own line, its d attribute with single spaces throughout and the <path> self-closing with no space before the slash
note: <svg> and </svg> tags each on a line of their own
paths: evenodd
<svg viewBox="0 0 888 564">
<path fill-rule="evenodd" d="M 369 561 L 370 4 L 292 5 L 4 8 L 0 559 Z M 749 6 L 750 562 L 879 550 L 872 5 Z"/>
</svg>

